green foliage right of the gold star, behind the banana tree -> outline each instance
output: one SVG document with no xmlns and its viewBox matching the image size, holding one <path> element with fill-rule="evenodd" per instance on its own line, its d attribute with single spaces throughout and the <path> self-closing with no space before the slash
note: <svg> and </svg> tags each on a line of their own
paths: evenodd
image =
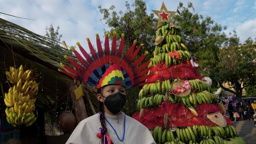
<svg viewBox="0 0 256 144">
<path fill-rule="evenodd" d="M 181 27 L 187 47 L 197 58 L 200 67 L 204 71 L 210 71 L 218 60 L 219 47 L 226 39 L 223 32 L 226 27 L 214 23 L 211 17 L 204 18 L 203 15 L 194 13 L 195 9 L 191 2 L 188 2 L 187 7 L 180 2 L 178 9 L 180 15 L 176 14 L 173 17 L 174 24 Z"/>
</svg>

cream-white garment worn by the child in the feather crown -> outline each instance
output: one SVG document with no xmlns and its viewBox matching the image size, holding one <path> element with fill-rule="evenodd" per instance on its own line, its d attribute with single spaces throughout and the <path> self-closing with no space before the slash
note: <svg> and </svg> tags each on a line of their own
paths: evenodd
<svg viewBox="0 0 256 144">
<path fill-rule="evenodd" d="M 123 141 L 117 138 L 114 130 L 105 120 L 108 134 L 114 144 L 156 144 L 150 131 L 144 125 L 123 112 L 118 116 L 107 113 L 104 116 L 114 127 L 121 140 L 123 138 L 125 116 L 125 137 Z M 97 133 L 100 132 L 99 128 L 101 128 L 100 115 L 97 113 L 82 120 L 66 144 L 101 144 L 101 139 L 97 137 Z"/>
</svg>

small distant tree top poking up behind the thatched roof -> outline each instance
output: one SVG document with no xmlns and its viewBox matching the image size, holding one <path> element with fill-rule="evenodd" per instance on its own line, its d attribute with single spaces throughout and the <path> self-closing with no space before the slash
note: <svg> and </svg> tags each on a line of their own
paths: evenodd
<svg viewBox="0 0 256 144">
<path fill-rule="evenodd" d="M 52 23 L 51 23 L 49 28 L 47 26 L 45 28 L 45 30 L 46 30 L 45 31 L 45 33 L 46 33 L 45 37 L 50 38 L 53 43 L 60 45 L 59 41 L 60 41 L 60 38 L 62 37 L 62 35 L 59 34 L 59 29 L 60 29 L 60 27 L 57 26 L 57 30 L 55 31 L 53 26 L 52 26 Z"/>
</svg>

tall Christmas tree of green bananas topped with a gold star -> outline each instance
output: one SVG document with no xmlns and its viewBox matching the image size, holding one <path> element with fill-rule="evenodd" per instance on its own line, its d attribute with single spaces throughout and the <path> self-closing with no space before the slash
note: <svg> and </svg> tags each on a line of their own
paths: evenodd
<svg viewBox="0 0 256 144">
<path fill-rule="evenodd" d="M 138 110 L 133 118 L 145 125 L 159 144 L 243 144 L 233 122 L 224 115 L 226 110 L 203 76 L 197 73 L 198 64 L 189 53 L 180 27 L 171 22 L 175 12 L 160 11 L 155 40 L 155 65 L 139 93 Z M 189 47 L 189 46 L 188 46 Z"/>
</svg>

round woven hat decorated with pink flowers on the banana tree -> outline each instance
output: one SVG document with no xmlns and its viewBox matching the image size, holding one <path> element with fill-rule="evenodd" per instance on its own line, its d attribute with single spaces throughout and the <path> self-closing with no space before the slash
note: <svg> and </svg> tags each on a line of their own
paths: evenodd
<svg viewBox="0 0 256 144">
<path fill-rule="evenodd" d="M 172 82 L 172 85 L 171 85 L 171 90 L 172 90 L 172 93 L 176 96 L 179 96 L 179 97 L 184 97 L 188 94 L 190 94 L 191 92 L 191 89 L 187 89 L 187 88 L 183 88 L 184 86 L 184 83 L 185 81 L 183 80 L 177 80 L 177 81 L 174 81 Z M 177 93 L 177 91 L 179 91 L 179 88 L 181 89 L 182 92 L 179 92 Z M 178 89 L 177 89 L 178 88 Z M 184 90 L 184 91 L 183 91 Z"/>
</svg>

